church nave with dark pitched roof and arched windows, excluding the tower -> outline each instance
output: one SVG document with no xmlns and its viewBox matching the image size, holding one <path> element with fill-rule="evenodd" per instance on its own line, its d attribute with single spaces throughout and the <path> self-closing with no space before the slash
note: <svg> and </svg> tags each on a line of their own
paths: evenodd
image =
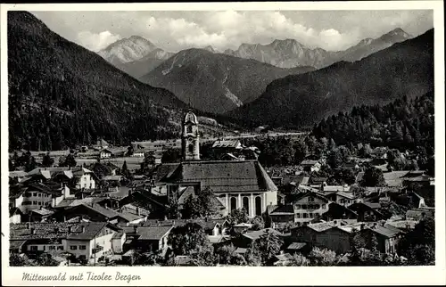
<svg viewBox="0 0 446 287">
<path fill-rule="evenodd" d="M 277 186 L 257 160 L 183 161 L 162 181 L 171 198 L 183 187 L 194 186 L 194 193 L 210 188 L 225 207 L 223 215 L 245 208 L 254 217 L 277 204 Z"/>
</svg>

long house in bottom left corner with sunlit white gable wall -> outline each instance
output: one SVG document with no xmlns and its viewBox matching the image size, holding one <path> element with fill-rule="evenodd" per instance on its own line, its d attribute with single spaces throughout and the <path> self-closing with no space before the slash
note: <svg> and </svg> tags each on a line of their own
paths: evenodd
<svg viewBox="0 0 446 287">
<path fill-rule="evenodd" d="M 97 261 L 111 252 L 111 238 L 119 230 L 106 222 L 21 223 L 10 225 L 10 243 L 29 255 L 68 252 L 71 258 Z"/>
</svg>

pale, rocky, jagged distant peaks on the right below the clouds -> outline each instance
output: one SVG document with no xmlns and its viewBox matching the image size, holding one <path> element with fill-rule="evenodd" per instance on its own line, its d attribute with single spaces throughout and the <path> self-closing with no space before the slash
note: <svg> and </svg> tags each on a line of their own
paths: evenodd
<svg viewBox="0 0 446 287">
<path fill-rule="evenodd" d="M 345 51 L 333 52 L 321 48 L 311 49 L 294 39 L 274 40 L 268 45 L 242 44 L 237 50 L 225 53 L 244 59 L 267 62 L 281 68 L 312 66 L 318 69 L 336 61 L 358 61 L 395 43 L 412 37 L 402 29 L 393 29 L 376 39 L 366 38 Z"/>
</svg>

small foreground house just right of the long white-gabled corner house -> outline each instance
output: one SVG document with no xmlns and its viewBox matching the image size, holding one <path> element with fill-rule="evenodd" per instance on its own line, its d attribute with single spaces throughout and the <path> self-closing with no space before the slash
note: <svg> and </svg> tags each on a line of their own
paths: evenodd
<svg viewBox="0 0 446 287">
<path fill-rule="evenodd" d="M 123 227 L 127 238 L 123 250 L 165 253 L 169 247 L 168 236 L 172 228 L 173 225 Z"/>
</svg>

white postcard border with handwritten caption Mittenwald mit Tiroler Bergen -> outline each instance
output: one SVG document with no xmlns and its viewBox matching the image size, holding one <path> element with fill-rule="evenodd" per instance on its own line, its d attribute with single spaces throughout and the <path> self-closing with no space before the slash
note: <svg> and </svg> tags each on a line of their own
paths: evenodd
<svg viewBox="0 0 446 287">
<path fill-rule="evenodd" d="M 103 284 L 128 285 L 351 285 L 351 284 L 445 284 L 445 183 L 444 183 L 444 27 L 442 1 L 386 1 L 386 2 L 269 2 L 269 3 L 164 3 L 164 4 L 2 4 L 1 21 L 1 173 L 2 173 L 2 284 L 23 286 L 54 286 Z M 435 218 L 436 218 L 436 265 L 409 267 L 9 267 L 8 221 L 8 91 L 6 12 L 26 11 L 206 11 L 206 10 L 434 10 L 434 81 L 435 81 Z M 414 55 L 416 57 L 417 55 Z M 114 276 L 140 275 L 140 281 L 83 282 L 23 282 L 22 272 L 39 275 L 57 275 L 66 272 L 94 271 L 96 274 Z"/>
</svg>

